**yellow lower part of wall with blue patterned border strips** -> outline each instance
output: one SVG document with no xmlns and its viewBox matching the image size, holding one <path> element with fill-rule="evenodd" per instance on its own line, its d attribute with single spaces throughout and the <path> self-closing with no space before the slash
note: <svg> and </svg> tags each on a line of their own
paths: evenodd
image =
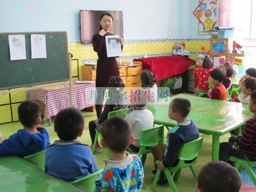
<svg viewBox="0 0 256 192">
<path fill-rule="evenodd" d="M 172 55 L 172 47 L 177 42 L 186 44 L 185 49 L 192 53 L 191 59 L 195 59 L 198 54 L 204 54 L 210 49 L 209 39 L 126 40 L 124 41 L 122 58 L 123 61 L 128 61 L 142 58 L 143 55 L 149 57 Z M 201 47 L 205 47 L 205 51 L 202 51 Z M 96 64 L 97 62 L 98 56 L 93 51 L 91 44 L 68 43 L 68 52 L 73 54 L 72 76 L 78 76 L 79 73 L 80 79 L 82 76 L 81 66 L 85 63 Z M 17 108 L 19 103 L 24 100 L 26 100 L 26 91 L 5 94 L 0 99 L 0 124 L 17 121 Z"/>
</svg>

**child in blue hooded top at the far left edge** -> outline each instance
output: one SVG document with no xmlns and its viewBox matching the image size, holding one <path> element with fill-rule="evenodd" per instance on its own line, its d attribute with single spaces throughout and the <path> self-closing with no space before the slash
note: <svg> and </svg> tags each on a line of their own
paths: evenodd
<svg viewBox="0 0 256 192">
<path fill-rule="evenodd" d="M 0 143 L 0 155 L 24 157 L 46 149 L 50 145 L 49 133 L 41 123 L 41 107 L 36 101 L 23 101 L 18 107 L 18 116 L 23 130 Z"/>
</svg>

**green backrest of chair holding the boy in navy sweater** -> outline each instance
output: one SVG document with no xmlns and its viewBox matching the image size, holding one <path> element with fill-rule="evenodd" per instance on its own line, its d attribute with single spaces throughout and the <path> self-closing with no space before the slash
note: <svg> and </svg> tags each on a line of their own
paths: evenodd
<svg viewBox="0 0 256 192">
<path fill-rule="evenodd" d="M 203 137 L 185 143 L 178 154 L 179 160 L 193 160 L 197 157 L 203 142 Z"/>
</svg>

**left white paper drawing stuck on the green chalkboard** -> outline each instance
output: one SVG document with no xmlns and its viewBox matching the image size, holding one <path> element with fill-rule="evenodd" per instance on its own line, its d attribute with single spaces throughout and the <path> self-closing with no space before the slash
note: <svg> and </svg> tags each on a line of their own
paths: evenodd
<svg viewBox="0 0 256 192">
<path fill-rule="evenodd" d="M 11 60 L 26 59 L 25 35 L 8 35 Z"/>
</svg>

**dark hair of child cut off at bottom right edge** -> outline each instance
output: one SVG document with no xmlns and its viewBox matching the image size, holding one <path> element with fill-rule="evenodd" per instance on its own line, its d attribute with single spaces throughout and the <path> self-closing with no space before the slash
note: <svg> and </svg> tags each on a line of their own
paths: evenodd
<svg viewBox="0 0 256 192">
<path fill-rule="evenodd" d="M 197 186 L 203 192 L 239 192 L 242 180 L 239 172 L 228 163 L 212 161 L 198 175 Z"/>
</svg>

